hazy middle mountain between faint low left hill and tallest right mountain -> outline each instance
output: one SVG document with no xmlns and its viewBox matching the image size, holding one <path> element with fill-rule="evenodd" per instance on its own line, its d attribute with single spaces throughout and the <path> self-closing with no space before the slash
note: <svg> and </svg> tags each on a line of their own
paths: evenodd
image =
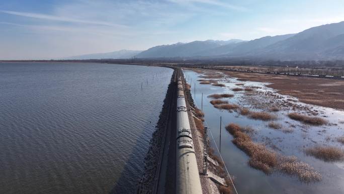
<svg viewBox="0 0 344 194">
<path fill-rule="evenodd" d="M 176 43 L 171 45 L 160 45 L 149 48 L 137 54 L 136 57 L 149 58 L 149 57 L 190 57 L 196 56 L 205 50 L 214 49 L 219 46 L 236 44 L 242 40 L 232 39 L 227 41 L 221 40 L 206 40 L 206 41 L 193 41 L 189 43 Z"/>
</svg>

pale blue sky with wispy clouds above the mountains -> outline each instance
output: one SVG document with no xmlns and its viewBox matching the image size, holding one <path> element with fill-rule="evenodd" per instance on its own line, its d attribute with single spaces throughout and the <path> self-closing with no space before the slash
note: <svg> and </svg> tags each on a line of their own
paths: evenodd
<svg viewBox="0 0 344 194">
<path fill-rule="evenodd" d="M 0 1 L 0 59 L 252 40 L 344 21 L 344 0 Z"/>
</svg>

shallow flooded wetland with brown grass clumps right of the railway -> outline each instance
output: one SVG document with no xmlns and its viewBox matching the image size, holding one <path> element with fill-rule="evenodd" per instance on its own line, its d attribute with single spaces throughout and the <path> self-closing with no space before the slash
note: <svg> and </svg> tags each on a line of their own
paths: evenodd
<svg viewBox="0 0 344 194">
<path fill-rule="evenodd" d="M 298 78 L 276 90 L 276 83 L 258 82 L 262 75 L 200 69 L 184 75 L 214 135 L 210 147 L 219 146 L 239 193 L 344 193 L 344 111 L 334 95 L 342 92 L 341 81 L 312 98 L 315 86 L 297 94 L 305 93 L 295 86 Z"/>
</svg>

